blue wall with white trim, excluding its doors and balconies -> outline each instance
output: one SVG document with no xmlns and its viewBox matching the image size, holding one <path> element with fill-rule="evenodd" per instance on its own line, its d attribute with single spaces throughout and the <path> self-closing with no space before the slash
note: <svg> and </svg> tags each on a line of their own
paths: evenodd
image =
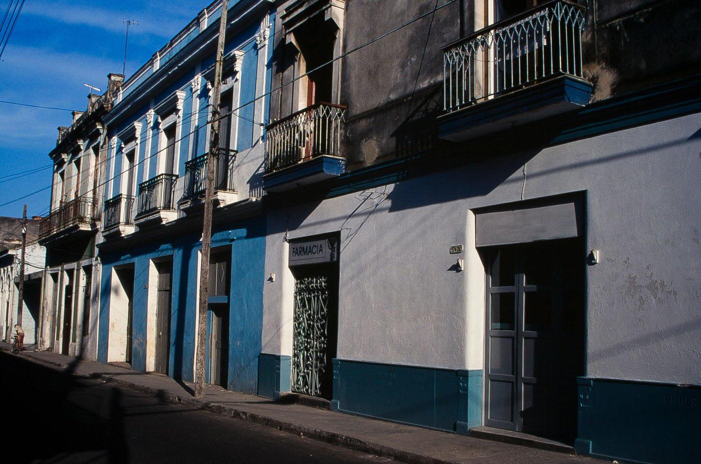
<svg viewBox="0 0 701 464">
<path fill-rule="evenodd" d="M 211 110 L 207 80 L 213 75 L 219 29 L 217 20 L 221 7 L 215 1 L 208 8 L 212 11 L 207 12 L 206 18 L 200 15 L 180 36 L 171 41 L 167 51 L 161 51 L 159 62 L 154 58 L 142 68 L 146 72 L 137 72 L 135 77 L 125 83 L 121 100 L 116 102 L 106 121 L 107 137 L 111 141 L 107 152 L 106 199 L 109 199 L 125 192 L 123 170 L 126 147 L 131 150 L 135 143 L 138 147 L 135 155 L 137 184 L 164 172 L 164 128 L 161 127 L 159 118 L 175 114 L 177 164 L 173 171 L 178 179 L 172 209 L 177 211 L 177 216 L 169 218 L 167 225 L 151 225 L 144 230 L 137 224 L 133 232 L 128 232 L 120 239 L 107 239 L 98 244 L 102 263 L 102 296 L 97 359 L 100 362 L 114 360 L 108 359 L 108 353 L 111 352 L 110 311 L 115 304 L 111 301 L 111 296 L 118 285 L 118 282 L 112 281 L 113 270 L 132 267 L 135 276 L 132 296 L 132 368 L 139 371 L 150 369 L 154 354 L 147 354 L 147 346 L 151 347 L 155 342 L 149 340 L 147 327 L 154 324 L 149 321 L 149 317 L 154 317 L 156 303 L 149 298 L 154 298 L 153 289 L 157 282 L 149 281 L 149 269 L 155 262 L 172 260 L 168 376 L 187 381 L 193 381 L 199 290 L 198 256 L 202 233 L 201 216 L 195 212 L 194 217 L 191 217 L 188 216 L 191 211 L 186 214 L 177 208 L 184 192 L 186 162 L 205 153 L 208 148 L 210 124 L 207 121 Z M 247 102 L 253 100 L 257 92 L 269 90 L 271 85 L 270 79 L 266 79 L 262 88 L 257 82 L 258 53 L 259 50 L 267 51 L 266 57 L 261 59 L 269 66 L 273 47 L 262 48 L 259 44 L 261 37 L 264 37 L 261 28 L 266 25 L 270 27 L 271 22 L 274 24 L 275 11 L 273 3 L 268 0 L 230 1 L 229 8 L 229 30 L 224 49 L 225 72 L 229 73 L 229 83 L 235 82 L 233 92 L 229 95 L 238 92 L 238 101 Z M 265 20 L 266 16 L 271 20 Z M 203 18 L 207 22 L 203 23 Z M 274 37 L 272 31 L 269 35 Z M 264 69 L 263 75 L 269 77 L 270 69 Z M 237 149 L 240 157 L 248 160 L 260 157 L 262 162 L 263 153 L 254 150 L 254 146 L 259 144 L 258 134 L 255 133 L 257 127 L 247 120 L 265 120 L 266 111 L 267 107 L 264 107 L 264 114 L 255 114 L 254 105 L 250 104 L 238 111 L 240 118 L 231 118 L 230 127 L 237 135 L 236 140 L 232 140 L 231 148 Z M 134 133 L 137 140 L 131 138 Z M 120 137 L 126 140 L 121 140 Z M 230 201 L 226 208 L 217 208 L 215 225 L 212 227 L 212 248 L 228 247 L 231 250 L 229 297 L 224 297 L 226 300 L 212 297 L 209 303 L 229 307 L 226 387 L 229 390 L 255 393 L 258 389 L 258 355 L 261 352 L 266 218 L 260 214 L 259 207 L 247 208 L 248 205 L 255 204 L 257 199 L 252 197 L 252 189 L 247 185 L 250 175 L 246 171 L 241 172 L 242 170 L 243 168 L 234 169 L 231 174 L 235 176 L 234 187 L 238 194 L 233 192 L 235 200 Z M 134 194 L 138 196 L 138 190 Z M 137 203 L 138 199 L 135 200 L 135 210 Z M 132 216 L 134 213 L 132 211 Z M 217 221 L 224 214 L 230 219 Z M 173 229 L 178 232 L 168 232 Z M 128 244 L 125 245 L 124 242 Z M 151 277 L 153 276 L 154 272 L 151 271 Z M 209 335 L 211 312 L 207 321 Z M 151 359 L 148 359 L 149 356 Z"/>
</svg>

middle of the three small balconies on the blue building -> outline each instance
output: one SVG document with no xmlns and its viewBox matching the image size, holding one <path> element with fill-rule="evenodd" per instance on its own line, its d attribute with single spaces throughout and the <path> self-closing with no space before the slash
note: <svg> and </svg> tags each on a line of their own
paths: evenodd
<svg viewBox="0 0 701 464">
<path fill-rule="evenodd" d="M 177 175 L 160 174 L 139 184 L 134 223 L 139 227 L 168 223 L 177 218 L 175 209 Z"/>
</svg>

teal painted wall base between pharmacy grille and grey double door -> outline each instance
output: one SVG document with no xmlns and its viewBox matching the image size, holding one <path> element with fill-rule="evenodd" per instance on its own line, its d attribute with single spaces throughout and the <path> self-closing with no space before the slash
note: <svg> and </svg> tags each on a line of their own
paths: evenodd
<svg viewBox="0 0 701 464">
<path fill-rule="evenodd" d="M 466 434 L 482 425 L 482 371 L 334 359 L 331 407 Z"/>
</svg>

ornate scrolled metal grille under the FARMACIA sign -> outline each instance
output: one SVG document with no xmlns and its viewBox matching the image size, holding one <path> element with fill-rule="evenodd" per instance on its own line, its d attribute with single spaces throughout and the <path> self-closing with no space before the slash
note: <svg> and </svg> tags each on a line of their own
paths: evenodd
<svg viewBox="0 0 701 464">
<path fill-rule="evenodd" d="M 329 281 L 325 276 L 298 279 L 294 287 L 292 390 L 322 395 L 327 369 Z"/>
</svg>

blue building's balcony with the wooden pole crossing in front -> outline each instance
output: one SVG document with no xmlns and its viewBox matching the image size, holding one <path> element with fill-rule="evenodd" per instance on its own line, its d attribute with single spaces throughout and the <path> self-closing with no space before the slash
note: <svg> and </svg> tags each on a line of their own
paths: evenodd
<svg viewBox="0 0 701 464">
<path fill-rule="evenodd" d="M 215 206 L 233 204 L 238 193 L 233 187 L 233 164 L 236 162 L 236 151 L 220 150 L 217 153 L 215 167 Z M 207 164 L 209 154 L 203 154 L 185 163 L 185 192 L 178 205 L 188 213 L 203 205 L 205 186 L 207 185 Z"/>
</svg>

